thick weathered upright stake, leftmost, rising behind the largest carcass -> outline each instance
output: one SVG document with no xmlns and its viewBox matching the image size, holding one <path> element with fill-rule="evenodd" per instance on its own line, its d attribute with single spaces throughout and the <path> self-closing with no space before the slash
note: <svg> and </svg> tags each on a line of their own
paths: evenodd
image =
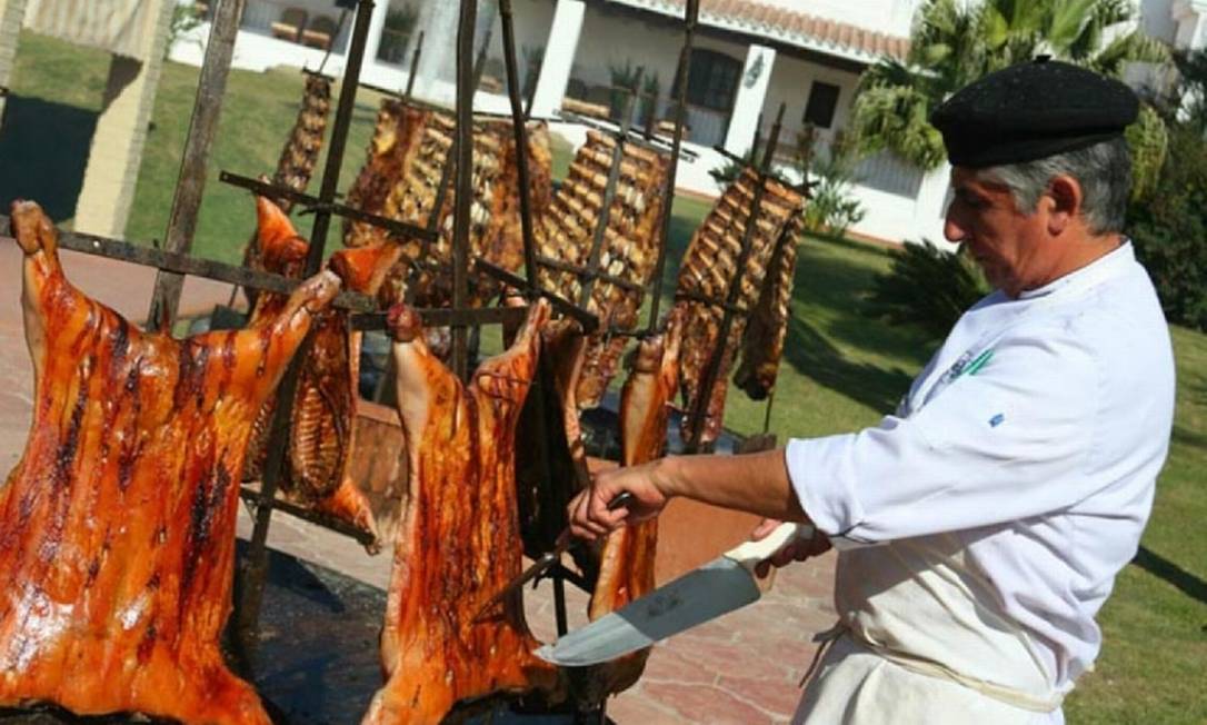
<svg viewBox="0 0 1207 725">
<path fill-rule="evenodd" d="M 171 214 L 168 218 L 168 230 L 164 232 L 164 246 L 168 251 L 188 251 L 193 244 L 197 213 L 202 207 L 202 193 L 205 191 L 210 147 L 214 145 L 218 116 L 222 112 L 222 97 L 226 94 L 227 76 L 231 74 L 234 39 L 239 34 L 239 22 L 243 19 L 245 6 L 246 0 L 218 0 L 214 11 L 210 37 L 205 44 L 205 58 L 197 81 L 197 95 L 193 99 L 193 116 L 188 122 L 188 137 L 185 140 L 180 173 L 176 176 L 176 191 L 171 199 Z M 171 272 L 156 274 L 151 309 L 147 312 L 150 329 L 163 331 L 171 329 L 183 286 L 185 278 L 180 274 Z"/>
</svg>

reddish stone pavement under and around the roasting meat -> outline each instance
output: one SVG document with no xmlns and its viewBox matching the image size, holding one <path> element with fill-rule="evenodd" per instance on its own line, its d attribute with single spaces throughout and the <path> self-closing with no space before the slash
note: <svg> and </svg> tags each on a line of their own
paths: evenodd
<svg viewBox="0 0 1207 725">
<path fill-rule="evenodd" d="M 145 317 L 154 277 L 150 269 L 69 251 L 63 262 L 80 289 L 130 319 Z M 19 250 L 0 237 L 0 472 L 24 448 L 33 395 L 19 269 Z M 228 285 L 191 278 L 181 313 L 205 312 L 228 298 Z M 244 512 L 238 534 L 246 539 L 250 530 Z M 369 557 L 352 540 L 287 515 L 274 516 L 269 545 L 381 590 L 389 582 L 389 553 Z M 608 715 L 622 725 L 786 723 L 815 651 L 810 638 L 833 624 L 833 556 L 826 556 L 783 569 L 758 603 L 654 648 L 645 677 L 608 703 Z M 567 599 L 570 626 L 585 624 L 585 596 L 567 586 Z M 552 585 L 529 590 L 525 608 L 537 637 L 553 639 Z M 358 717 L 350 714 L 348 723 Z"/>
</svg>

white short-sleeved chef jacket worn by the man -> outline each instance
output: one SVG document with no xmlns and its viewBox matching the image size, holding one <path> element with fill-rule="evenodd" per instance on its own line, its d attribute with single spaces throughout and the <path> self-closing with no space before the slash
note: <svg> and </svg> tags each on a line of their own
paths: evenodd
<svg viewBox="0 0 1207 725">
<path fill-rule="evenodd" d="M 981 300 L 897 414 L 787 447 L 805 512 L 840 551 L 840 617 L 865 639 L 990 683 L 1011 677 L 1019 662 L 1003 657 L 1022 650 L 976 643 L 1016 630 L 1032 672 L 1067 692 L 1097 656 L 1094 616 L 1139 544 L 1173 404 L 1168 327 L 1130 243 L 1016 300 Z M 972 599 L 955 615 L 970 620 L 956 652 L 928 634 L 952 619 L 946 594 L 932 597 L 911 570 L 949 556 L 967 572 L 951 591 Z M 910 586 L 905 599 L 884 597 Z"/>
</svg>

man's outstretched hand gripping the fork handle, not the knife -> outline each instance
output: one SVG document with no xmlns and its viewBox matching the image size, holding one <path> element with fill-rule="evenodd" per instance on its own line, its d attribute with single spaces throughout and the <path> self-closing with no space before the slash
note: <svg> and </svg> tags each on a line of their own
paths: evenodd
<svg viewBox="0 0 1207 725">
<path fill-rule="evenodd" d="M 581 492 L 570 505 L 570 533 L 594 541 L 610 532 L 658 516 L 670 499 L 666 487 L 667 459 L 663 458 L 631 468 L 601 471 L 594 476 L 591 487 Z M 608 511 L 608 503 L 629 492 L 634 500 L 628 506 Z"/>
</svg>

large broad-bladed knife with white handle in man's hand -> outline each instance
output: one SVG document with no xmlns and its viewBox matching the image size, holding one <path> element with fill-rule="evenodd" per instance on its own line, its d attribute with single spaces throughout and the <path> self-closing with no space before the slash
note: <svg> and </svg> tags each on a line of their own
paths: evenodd
<svg viewBox="0 0 1207 725">
<path fill-rule="evenodd" d="M 780 524 L 765 539 L 746 541 L 536 654 L 564 667 L 599 665 L 746 607 L 763 593 L 754 567 L 788 544 L 812 536 L 809 524 Z"/>
</svg>

